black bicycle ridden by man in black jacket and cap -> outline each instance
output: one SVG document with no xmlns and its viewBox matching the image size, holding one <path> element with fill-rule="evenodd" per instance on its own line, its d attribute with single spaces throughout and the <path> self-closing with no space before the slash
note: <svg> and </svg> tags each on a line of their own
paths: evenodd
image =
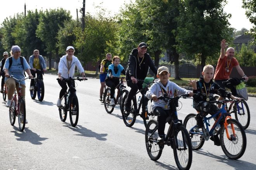
<svg viewBox="0 0 256 170">
<path fill-rule="evenodd" d="M 145 127 L 147 127 L 147 123 L 149 122 L 150 119 L 154 119 L 154 114 L 153 112 L 149 109 L 150 108 L 150 103 L 152 100 L 149 100 L 148 103 L 146 103 L 146 92 L 147 90 L 149 90 L 149 87 L 152 83 L 154 83 L 154 78 L 151 77 L 146 77 L 145 80 L 138 80 L 138 82 L 144 82 L 144 87 L 139 90 L 133 97 L 133 99 L 131 100 L 131 111 L 130 112 L 126 112 L 125 108 L 125 100 L 128 97 L 128 93 L 127 95 L 125 95 L 123 97 L 123 103 L 122 103 L 122 117 L 123 117 L 123 121 L 125 123 L 126 126 L 131 127 L 133 126 L 133 124 L 136 121 L 136 117 L 140 116 L 143 119 L 144 125 Z M 145 83 L 147 82 L 147 83 Z M 140 103 L 137 106 L 137 99 L 136 99 L 136 95 L 138 93 L 142 92 L 142 97 L 140 100 Z M 142 112 L 140 113 L 140 108 L 142 108 Z"/>
</svg>

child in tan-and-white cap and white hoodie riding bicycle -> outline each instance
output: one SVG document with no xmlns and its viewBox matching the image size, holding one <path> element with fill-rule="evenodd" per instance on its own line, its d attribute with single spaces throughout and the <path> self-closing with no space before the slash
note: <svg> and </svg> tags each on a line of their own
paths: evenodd
<svg viewBox="0 0 256 170">
<path fill-rule="evenodd" d="M 157 97 L 166 93 L 169 97 L 173 97 L 175 93 L 175 89 L 177 89 L 178 94 L 181 95 L 184 93 L 188 93 L 189 96 L 193 96 L 193 92 L 186 90 L 185 88 L 181 88 L 176 83 L 173 83 L 169 80 L 170 73 L 167 67 L 161 66 L 157 70 L 157 78 L 155 83 L 150 87 L 150 89 L 146 93 L 146 97 L 148 99 L 152 99 L 151 107 L 155 115 L 157 116 L 158 123 L 158 141 L 164 141 L 164 128 L 166 124 L 166 118 L 170 116 L 170 106 L 168 103 L 163 100 L 158 100 Z"/>
</svg>

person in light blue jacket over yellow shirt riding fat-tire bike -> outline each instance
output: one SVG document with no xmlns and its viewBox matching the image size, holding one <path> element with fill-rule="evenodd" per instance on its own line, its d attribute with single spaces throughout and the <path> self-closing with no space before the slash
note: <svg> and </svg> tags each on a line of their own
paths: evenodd
<svg viewBox="0 0 256 170">
<path fill-rule="evenodd" d="M 46 71 L 45 59 L 43 56 L 39 55 L 39 50 L 35 49 L 34 54 L 29 57 L 29 66 L 31 68 L 31 74 L 35 77 L 36 70 Z M 43 76 L 41 76 L 43 77 Z M 31 79 L 31 87 L 30 90 L 35 90 L 33 84 L 35 83 L 35 79 Z"/>
</svg>

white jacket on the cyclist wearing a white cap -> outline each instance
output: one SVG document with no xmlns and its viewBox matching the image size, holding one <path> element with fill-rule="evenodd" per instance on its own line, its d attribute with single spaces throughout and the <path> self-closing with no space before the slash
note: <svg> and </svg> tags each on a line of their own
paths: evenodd
<svg viewBox="0 0 256 170">
<path fill-rule="evenodd" d="M 71 61 L 71 65 L 70 65 L 70 69 L 69 69 L 69 73 L 68 73 L 67 55 L 62 56 L 62 58 L 59 62 L 58 74 L 61 73 L 61 76 L 63 78 L 73 77 L 75 66 L 77 66 L 80 74 L 82 72 L 85 72 L 85 70 L 83 70 L 83 66 L 81 65 L 79 59 L 76 56 L 72 56 L 72 61 Z"/>
</svg>

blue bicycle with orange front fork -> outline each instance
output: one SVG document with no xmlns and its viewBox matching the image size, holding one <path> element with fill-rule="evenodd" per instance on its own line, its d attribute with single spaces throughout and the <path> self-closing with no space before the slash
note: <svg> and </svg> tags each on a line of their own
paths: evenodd
<svg viewBox="0 0 256 170">
<path fill-rule="evenodd" d="M 225 109 L 225 103 L 238 102 L 237 100 L 210 101 L 210 103 L 222 104 L 218 112 L 210 117 L 204 117 L 204 127 L 198 128 L 195 120 L 196 114 L 189 114 L 184 119 L 184 126 L 189 131 L 193 150 L 199 150 L 208 141 L 210 136 L 220 134 L 220 145 L 230 159 L 239 159 L 246 150 L 246 133 L 242 125 L 232 119 Z M 209 121 L 214 119 L 214 124 L 209 129 Z M 219 126 L 220 125 L 220 128 Z M 201 130 L 200 130 L 201 129 Z"/>
</svg>

